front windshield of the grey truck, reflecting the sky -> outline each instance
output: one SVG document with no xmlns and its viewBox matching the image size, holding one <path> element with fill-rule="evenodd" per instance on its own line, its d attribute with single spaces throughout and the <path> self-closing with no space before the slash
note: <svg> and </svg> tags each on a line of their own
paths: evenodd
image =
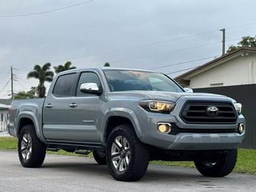
<svg viewBox="0 0 256 192">
<path fill-rule="evenodd" d="M 110 91 L 170 91 L 183 92 L 165 74 L 148 71 L 105 70 Z"/>
</svg>

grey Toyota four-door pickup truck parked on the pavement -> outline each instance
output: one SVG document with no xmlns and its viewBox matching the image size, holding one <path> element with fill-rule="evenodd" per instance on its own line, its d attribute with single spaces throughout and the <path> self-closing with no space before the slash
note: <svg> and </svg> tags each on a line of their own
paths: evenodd
<svg viewBox="0 0 256 192">
<path fill-rule="evenodd" d="M 233 99 L 194 94 L 165 74 L 88 68 L 57 74 L 46 98 L 13 101 L 8 132 L 24 167 L 62 149 L 92 151 L 116 180 L 141 179 L 152 160 L 194 161 L 204 176 L 224 177 L 245 120 Z"/>
</svg>

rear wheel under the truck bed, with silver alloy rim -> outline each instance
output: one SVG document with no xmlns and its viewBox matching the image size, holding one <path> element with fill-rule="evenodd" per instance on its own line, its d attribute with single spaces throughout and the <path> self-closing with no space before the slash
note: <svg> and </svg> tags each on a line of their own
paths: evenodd
<svg viewBox="0 0 256 192">
<path fill-rule="evenodd" d="M 22 127 L 18 136 L 18 157 L 23 167 L 40 167 L 45 160 L 46 146 L 40 141 L 32 124 Z"/>
</svg>

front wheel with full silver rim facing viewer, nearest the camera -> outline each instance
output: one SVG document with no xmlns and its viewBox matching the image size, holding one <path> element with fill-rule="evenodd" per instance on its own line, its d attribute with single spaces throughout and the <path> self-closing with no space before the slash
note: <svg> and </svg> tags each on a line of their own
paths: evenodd
<svg viewBox="0 0 256 192">
<path fill-rule="evenodd" d="M 108 170 L 115 180 L 140 180 L 148 169 L 148 149 L 131 125 L 118 125 L 111 131 L 106 155 Z"/>
</svg>

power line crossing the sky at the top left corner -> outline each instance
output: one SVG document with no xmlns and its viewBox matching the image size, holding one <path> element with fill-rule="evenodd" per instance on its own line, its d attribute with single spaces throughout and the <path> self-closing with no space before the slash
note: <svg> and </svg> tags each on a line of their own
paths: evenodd
<svg viewBox="0 0 256 192">
<path fill-rule="evenodd" d="M 92 2 L 92 1 L 93 0 L 88 0 L 88 1 L 85 1 L 85 2 L 80 2 L 78 4 L 69 5 L 69 6 L 62 7 L 62 8 L 53 8 L 53 9 L 50 9 L 50 10 L 45 11 L 45 12 L 32 12 L 32 13 L 24 13 L 24 14 L 16 14 L 16 15 L 0 15 L 0 17 L 1 18 L 15 18 L 15 17 L 25 17 L 25 16 L 31 16 L 31 15 L 42 15 L 42 14 L 49 13 L 49 12 L 58 12 L 58 11 L 62 11 L 62 10 L 68 9 L 68 8 L 73 8 L 73 7 L 76 7 L 78 5 L 83 5 L 83 4 Z"/>
</svg>

